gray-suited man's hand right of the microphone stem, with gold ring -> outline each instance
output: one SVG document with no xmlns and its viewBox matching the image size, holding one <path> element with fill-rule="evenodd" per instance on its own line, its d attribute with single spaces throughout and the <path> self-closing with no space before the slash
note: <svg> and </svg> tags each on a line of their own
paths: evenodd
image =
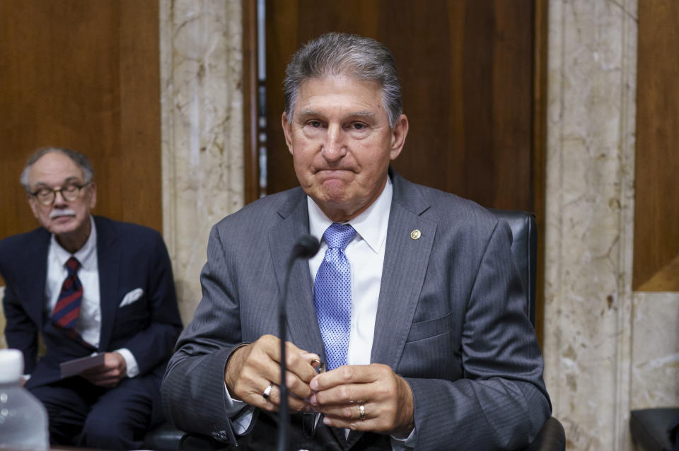
<svg viewBox="0 0 679 451">
<path fill-rule="evenodd" d="M 311 406 L 328 426 L 404 438 L 414 427 L 410 385 L 387 365 L 344 365 L 315 376 L 310 386 Z"/>
</svg>

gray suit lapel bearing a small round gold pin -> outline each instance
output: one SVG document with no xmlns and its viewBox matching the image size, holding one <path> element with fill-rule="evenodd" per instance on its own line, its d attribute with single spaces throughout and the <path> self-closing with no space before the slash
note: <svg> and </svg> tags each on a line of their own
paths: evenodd
<svg viewBox="0 0 679 451">
<path fill-rule="evenodd" d="M 371 362 L 396 370 L 422 291 L 436 224 L 422 218 L 429 204 L 417 187 L 396 174 L 393 181 Z"/>
</svg>

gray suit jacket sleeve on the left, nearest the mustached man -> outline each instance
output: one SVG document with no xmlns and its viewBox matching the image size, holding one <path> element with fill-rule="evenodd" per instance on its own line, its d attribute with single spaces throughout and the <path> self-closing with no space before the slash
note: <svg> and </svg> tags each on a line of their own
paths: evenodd
<svg viewBox="0 0 679 451">
<path fill-rule="evenodd" d="M 240 343 L 235 276 L 215 225 L 200 280 L 203 297 L 170 359 L 161 394 L 166 417 L 182 429 L 236 443 L 226 414 L 224 370 Z"/>
</svg>

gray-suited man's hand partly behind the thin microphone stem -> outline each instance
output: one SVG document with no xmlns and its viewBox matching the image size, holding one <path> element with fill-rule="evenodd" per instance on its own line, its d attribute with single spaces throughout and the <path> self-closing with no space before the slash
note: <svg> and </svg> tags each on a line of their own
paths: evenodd
<svg viewBox="0 0 679 451">
<path fill-rule="evenodd" d="M 305 399 L 311 396 L 309 382 L 316 375 L 312 362 L 318 356 L 286 342 L 286 387 L 290 411 L 308 409 Z M 233 351 L 226 362 L 224 382 L 233 399 L 267 411 L 277 411 L 281 402 L 281 342 L 273 335 L 264 335 L 252 344 Z M 264 397 L 269 383 L 273 387 Z"/>
</svg>

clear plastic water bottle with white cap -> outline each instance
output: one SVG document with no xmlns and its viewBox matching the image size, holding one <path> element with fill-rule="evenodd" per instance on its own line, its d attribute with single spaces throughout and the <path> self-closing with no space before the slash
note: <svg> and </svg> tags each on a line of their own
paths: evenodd
<svg viewBox="0 0 679 451">
<path fill-rule="evenodd" d="M 23 354 L 0 349 L 0 448 L 47 450 L 47 411 L 19 381 Z"/>
</svg>

